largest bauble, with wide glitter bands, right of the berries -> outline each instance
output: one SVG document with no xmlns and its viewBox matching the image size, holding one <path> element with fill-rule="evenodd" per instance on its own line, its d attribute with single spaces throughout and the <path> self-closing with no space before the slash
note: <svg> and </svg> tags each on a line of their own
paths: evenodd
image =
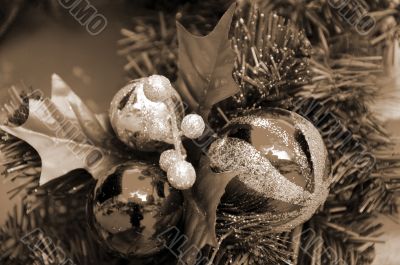
<svg viewBox="0 0 400 265">
<path fill-rule="evenodd" d="M 294 112 L 265 109 L 231 120 L 208 156 L 214 170 L 238 172 L 221 209 L 229 212 L 233 209 L 226 206 L 236 205 L 243 218 L 263 216 L 276 232 L 307 221 L 329 192 L 330 162 L 323 139 Z"/>
</svg>

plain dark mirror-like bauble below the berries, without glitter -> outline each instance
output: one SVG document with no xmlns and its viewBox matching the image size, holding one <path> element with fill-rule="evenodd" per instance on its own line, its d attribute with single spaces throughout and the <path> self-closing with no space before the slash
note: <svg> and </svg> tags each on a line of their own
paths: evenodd
<svg viewBox="0 0 400 265">
<path fill-rule="evenodd" d="M 179 222 L 183 198 L 152 164 L 127 162 L 99 179 L 88 216 L 100 241 L 121 256 L 146 257 L 167 245 L 161 236 Z"/>
</svg>

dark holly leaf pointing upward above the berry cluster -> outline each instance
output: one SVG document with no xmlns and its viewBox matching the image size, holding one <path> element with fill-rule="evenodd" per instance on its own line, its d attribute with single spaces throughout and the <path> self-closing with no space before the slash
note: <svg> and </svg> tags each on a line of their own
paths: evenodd
<svg viewBox="0 0 400 265">
<path fill-rule="evenodd" d="M 205 120 L 212 106 L 239 91 L 232 78 L 235 52 L 229 29 L 236 4 L 232 4 L 214 30 L 195 36 L 177 22 L 179 79 L 183 100 Z"/>
</svg>

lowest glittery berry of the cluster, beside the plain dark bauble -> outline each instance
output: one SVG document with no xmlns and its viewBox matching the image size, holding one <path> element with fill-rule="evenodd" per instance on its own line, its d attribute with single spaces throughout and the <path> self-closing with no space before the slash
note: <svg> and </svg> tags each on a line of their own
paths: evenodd
<svg viewBox="0 0 400 265">
<path fill-rule="evenodd" d="M 178 161 L 168 169 L 167 177 L 172 187 L 178 190 L 186 190 L 196 181 L 196 171 L 193 165 L 187 161 Z"/>
</svg>

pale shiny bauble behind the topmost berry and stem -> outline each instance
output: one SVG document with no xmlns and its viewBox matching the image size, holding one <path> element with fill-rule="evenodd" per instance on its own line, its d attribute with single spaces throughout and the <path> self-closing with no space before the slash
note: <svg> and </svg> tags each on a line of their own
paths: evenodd
<svg viewBox="0 0 400 265">
<path fill-rule="evenodd" d="M 172 116 L 178 123 L 184 115 L 179 94 L 171 88 L 175 115 L 171 115 L 165 102 L 149 100 L 143 91 L 147 78 L 132 81 L 114 96 L 110 106 L 111 125 L 118 138 L 140 151 L 162 151 L 173 144 Z"/>
</svg>

